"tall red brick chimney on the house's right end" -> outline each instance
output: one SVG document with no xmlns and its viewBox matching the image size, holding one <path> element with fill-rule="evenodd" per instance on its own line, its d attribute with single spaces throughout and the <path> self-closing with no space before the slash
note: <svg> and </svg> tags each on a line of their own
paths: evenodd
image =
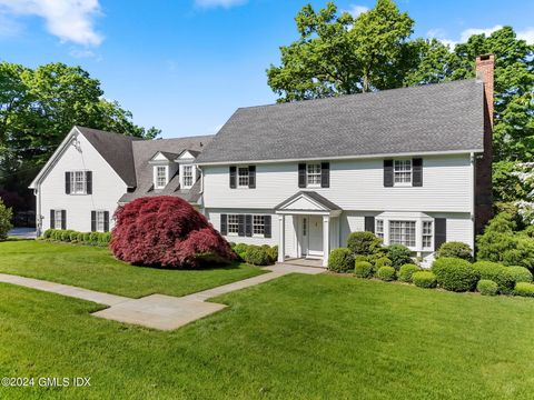
<svg viewBox="0 0 534 400">
<path fill-rule="evenodd" d="M 495 56 L 478 56 L 475 66 L 476 79 L 484 83 L 484 152 L 475 160 L 475 233 L 479 234 L 493 217 L 493 80 Z"/>
</svg>

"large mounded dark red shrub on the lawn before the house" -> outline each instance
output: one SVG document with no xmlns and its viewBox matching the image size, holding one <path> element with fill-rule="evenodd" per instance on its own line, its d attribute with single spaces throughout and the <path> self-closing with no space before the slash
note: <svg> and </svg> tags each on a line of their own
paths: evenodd
<svg viewBox="0 0 534 400">
<path fill-rule="evenodd" d="M 149 267 L 199 268 L 235 259 L 206 217 L 171 196 L 140 198 L 119 208 L 110 247 L 118 259 Z"/>
</svg>

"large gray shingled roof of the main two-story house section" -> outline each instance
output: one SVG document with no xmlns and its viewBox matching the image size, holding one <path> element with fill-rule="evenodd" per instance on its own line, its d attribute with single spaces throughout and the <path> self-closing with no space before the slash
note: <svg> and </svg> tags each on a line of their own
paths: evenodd
<svg viewBox="0 0 534 400">
<path fill-rule="evenodd" d="M 475 79 L 238 109 L 198 163 L 483 150 Z"/>
</svg>

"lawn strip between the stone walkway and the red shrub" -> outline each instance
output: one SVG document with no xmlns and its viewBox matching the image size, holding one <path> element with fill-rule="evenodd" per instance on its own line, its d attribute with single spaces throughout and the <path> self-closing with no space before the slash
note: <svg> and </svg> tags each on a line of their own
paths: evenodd
<svg viewBox="0 0 534 400">
<path fill-rule="evenodd" d="M 139 298 L 152 293 L 184 296 L 264 271 L 239 263 L 190 271 L 142 268 L 113 259 L 108 249 L 14 240 L 0 242 L 0 272 Z"/>
</svg>

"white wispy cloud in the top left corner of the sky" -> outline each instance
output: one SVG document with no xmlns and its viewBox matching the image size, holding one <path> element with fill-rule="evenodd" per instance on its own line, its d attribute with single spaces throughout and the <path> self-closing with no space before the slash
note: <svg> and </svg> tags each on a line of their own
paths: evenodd
<svg viewBox="0 0 534 400">
<path fill-rule="evenodd" d="M 47 30 L 61 41 L 99 46 L 103 40 L 93 27 L 100 14 L 98 0 L 0 0 L 0 11 L 43 18 Z"/>
</svg>

